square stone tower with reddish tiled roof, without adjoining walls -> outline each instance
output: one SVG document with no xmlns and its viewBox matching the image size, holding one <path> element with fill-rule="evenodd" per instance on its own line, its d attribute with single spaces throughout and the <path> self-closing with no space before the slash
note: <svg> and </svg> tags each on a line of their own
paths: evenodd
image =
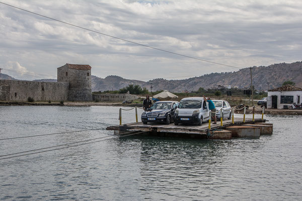
<svg viewBox="0 0 302 201">
<path fill-rule="evenodd" d="M 69 64 L 57 68 L 58 82 L 68 82 L 68 100 L 92 100 L 91 66 Z"/>
</svg>

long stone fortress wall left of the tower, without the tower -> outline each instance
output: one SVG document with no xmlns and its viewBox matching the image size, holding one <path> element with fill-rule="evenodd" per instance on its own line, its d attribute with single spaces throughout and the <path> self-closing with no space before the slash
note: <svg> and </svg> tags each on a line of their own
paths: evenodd
<svg viewBox="0 0 302 201">
<path fill-rule="evenodd" d="M 0 80 L 0 100 L 27 101 L 34 100 L 57 101 L 67 100 L 68 82 L 38 82 L 19 80 Z"/>
</svg>

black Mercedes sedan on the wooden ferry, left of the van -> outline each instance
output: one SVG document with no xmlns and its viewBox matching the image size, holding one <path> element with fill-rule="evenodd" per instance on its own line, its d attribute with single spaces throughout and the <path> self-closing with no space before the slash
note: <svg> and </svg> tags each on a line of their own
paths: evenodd
<svg viewBox="0 0 302 201">
<path fill-rule="evenodd" d="M 170 124 L 174 121 L 174 113 L 178 106 L 177 101 L 159 101 L 154 103 L 148 111 L 141 114 L 141 122 L 157 122 Z"/>
</svg>

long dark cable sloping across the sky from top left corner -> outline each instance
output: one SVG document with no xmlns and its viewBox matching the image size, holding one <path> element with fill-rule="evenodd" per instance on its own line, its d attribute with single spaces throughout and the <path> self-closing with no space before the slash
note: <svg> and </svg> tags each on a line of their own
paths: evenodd
<svg viewBox="0 0 302 201">
<path fill-rule="evenodd" d="M 122 40 L 122 41 L 125 41 L 125 42 L 128 42 L 128 43 L 132 43 L 132 44 L 135 44 L 135 45 L 140 45 L 140 46 L 152 48 L 152 49 L 155 49 L 155 50 L 159 50 L 159 51 L 163 51 L 163 52 L 167 52 L 167 53 L 171 53 L 171 54 L 175 54 L 175 55 L 179 55 L 179 56 L 183 56 L 183 57 L 187 57 L 187 58 L 191 58 L 191 59 L 196 59 L 196 60 L 200 60 L 200 61 L 204 61 L 204 62 L 208 62 L 208 63 L 213 63 L 213 64 L 222 65 L 222 66 L 228 66 L 228 67 L 232 67 L 232 68 L 241 69 L 240 67 L 231 66 L 231 65 L 226 65 L 226 64 L 217 63 L 217 62 L 213 62 L 213 61 L 208 61 L 208 60 L 204 60 L 204 59 L 199 59 L 199 58 L 196 58 L 196 57 L 187 56 L 187 55 L 184 55 L 184 54 L 179 54 L 179 53 L 175 53 L 175 52 L 163 50 L 163 49 L 160 49 L 160 48 L 156 48 L 156 47 L 144 45 L 144 44 L 141 44 L 141 43 L 136 43 L 136 42 L 133 42 L 133 41 L 125 40 L 125 39 L 122 39 L 122 38 L 119 38 L 119 37 L 111 36 L 111 35 L 104 34 L 104 33 L 101 33 L 101 32 L 98 32 L 98 31 L 94 31 L 94 30 L 91 30 L 91 29 L 87 29 L 87 28 L 84 28 L 84 27 L 81 27 L 81 26 L 78 26 L 78 25 L 73 25 L 73 24 L 70 24 L 70 23 L 67 23 L 67 22 L 64 22 L 64 21 L 60 21 L 60 20 L 57 20 L 57 19 L 54 19 L 54 18 L 50 18 L 50 17 L 44 16 L 44 15 L 41 15 L 41 14 L 38 14 L 38 13 L 34 13 L 34 12 L 31 12 L 31 11 L 28 11 L 28 10 L 25 10 L 25 9 L 21 9 L 21 8 L 19 8 L 19 7 L 15 7 L 15 6 L 12 6 L 12 5 L 9 5 L 9 4 L 5 4 L 5 3 L 3 3 L 3 2 L 0 2 L 0 3 L 1 3 L 1 4 L 4 4 L 4 5 L 7 5 L 7 6 L 10 6 L 10 7 L 13 7 L 13 8 L 15 8 L 15 9 L 19 9 L 19 10 L 22 10 L 22 11 L 25 11 L 25 12 L 28 12 L 28 13 L 31 13 L 31 14 L 34 14 L 34 15 L 41 16 L 41 17 L 43 17 L 43 18 L 47 18 L 47 19 L 50 19 L 50 20 L 54 20 L 54 21 L 57 21 L 57 22 L 60 22 L 60 23 L 66 24 L 66 25 L 70 25 L 70 26 L 73 26 L 73 27 L 77 27 L 77 28 L 80 28 L 80 29 L 84 29 L 84 30 L 87 30 L 87 31 L 91 31 L 91 32 L 94 32 L 94 33 L 97 33 L 97 34 L 101 34 L 101 35 L 104 35 L 104 36 L 108 36 L 108 37 L 111 37 L 111 38 L 115 38 L 115 39 L 118 39 L 118 40 Z"/>
</svg>

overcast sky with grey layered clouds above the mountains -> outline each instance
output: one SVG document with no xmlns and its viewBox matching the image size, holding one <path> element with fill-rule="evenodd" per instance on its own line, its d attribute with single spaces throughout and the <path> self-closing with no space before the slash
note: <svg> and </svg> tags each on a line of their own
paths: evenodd
<svg viewBox="0 0 302 201">
<path fill-rule="evenodd" d="M 0 3 L 0 68 L 18 79 L 56 79 L 66 63 L 147 81 L 301 61 L 299 0 L 0 2 L 102 33 Z"/>
</svg>

